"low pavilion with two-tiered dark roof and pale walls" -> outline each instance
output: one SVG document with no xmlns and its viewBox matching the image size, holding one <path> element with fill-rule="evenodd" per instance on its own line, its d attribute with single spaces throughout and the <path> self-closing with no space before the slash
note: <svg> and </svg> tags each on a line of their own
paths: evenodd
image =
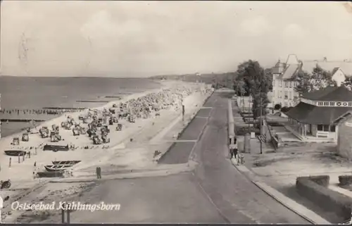
<svg viewBox="0 0 352 226">
<path fill-rule="evenodd" d="M 326 87 L 302 96 L 289 117 L 287 130 L 301 140 L 337 142 L 339 123 L 352 111 L 352 92 L 346 87 Z M 351 137 L 352 139 L 352 137 Z"/>
</svg>

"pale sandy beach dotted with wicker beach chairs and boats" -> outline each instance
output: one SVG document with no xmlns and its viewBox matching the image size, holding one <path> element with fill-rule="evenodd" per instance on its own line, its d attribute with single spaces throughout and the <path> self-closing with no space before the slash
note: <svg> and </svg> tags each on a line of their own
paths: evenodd
<svg viewBox="0 0 352 226">
<path fill-rule="evenodd" d="M 81 161 L 69 169 L 73 172 L 73 176 L 70 177 L 77 179 L 95 177 L 97 166 L 101 167 L 103 176 L 135 172 L 138 170 L 142 172 L 146 169 L 156 168 L 158 158 L 169 149 L 171 144 L 165 139 L 175 139 L 177 133 L 180 132 L 175 131 L 174 136 L 165 138 L 165 134 L 170 134 L 170 130 L 174 125 L 182 123 L 182 104 L 185 108 L 183 123 L 183 126 L 185 126 L 212 92 L 205 84 L 168 81 L 163 82 L 162 89 L 153 89 L 147 92 L 132 94 L 119 101 L 107 103 L 104 106 L 96 108 L 96 110 L 90 109 L 90 111 L 103 112 L 106 111 L 104 109 L 120 106 L 121 103 L 130 101 L 129 104 L 132 107 L 129 108 L 132 108 L 132 111 L 134 111 L 133 108 L 139 108 L 138 104 L 137 106 L 133 105 L 136 100 L 137 102 L 138 100 L 149 101 L 149 99 L 153 98 L 158 99 L 158 96 L 162 98 L 162 100 L 156 102 L 162 103 L 165 108 L 162 107 L 156 111 L 151 111 L 149 115 L 139 115 L 134 118 L 134 123 L 131 123 L 127 118 L 120 118 L 118 123 L 122 125 L 121 131 L 115 130 L 117 123 L 108 125 L 108 129 L 110 130 L 108 138 L 110 142 L 107 144 L 94 145 L 92 139 L 87 134 L 73 136 L 72 130 L 61 128 L 61 123 L 65 122 L 68 117 L 73 118 L 75 122 L 79 122 L 79 117 L 87 115 L 89 110 L 66 113 L 37 126 L 37 130 L 39 130 L 43 126 L 51 129 L 51 125 L 58 125 L 62 140 L 55 144 L 73 145 L 75 148 L 69 151 L 44 151 L 42 149 L 44 144 L 53 143 L 50 142 L 50 138 L 42 138 L 39 134 L 30 134 L 29 142 L 20 141 L 19 145 L 11 145 L 11 142 L 13 141 L 13 137 L 21 139 L 22 133 L 4 137 L 0 140 L 2 151 L 24 150 L 31 151 L 31 155 L 30 158 L 29 156 L 25 156 L 24 159 L 22 156 L 20 158 L 17 156 L 6 156 L 5 153 L 0 156 L 0 178 L 1 180 L 10 179 L 12 183 L 10 189 L 1 190 L 1 196 L 10 196 L 8 203 L 16 199 L 37 199 L 38 190 L 30 192 L 36 189 L 36 187 L 41 187 L 39 193 L 47 199 L 49 199 L 49 196 L 56 195 L 57 192 L 50 192 L 52 189 L 44 189 L 43 186 L 38 185 L 46 184 L 46 182 L 52 180 L 51 178 L 33 177 L 33 174 L 45 171 L 44 165 L 53 165 L 51 161 Z M 80 123 L 80 125 L 82 127 L 86 126 L 83 123 Z M 35 147 L 37 147 L 37 151 L 35 151 Z M 155 155 L 156 151 L 158 151 L 158 155 Z M 10 158 L 11 166 L 9 165 Z M 54 186 L 56 190 L 61 190 L 61 196 L 65 196 L 66 190 L 71 191 L 71 193 L 74 190 L 73 194 L 79 194 L 82 189 L 87 187 L 86 185 L 77 186 L 75 184 L 74 186 L 65 184 L 65 187 L 70 187 L 70 189 L 63 188 L 65 191 L 62 191 L 62 189 L 58 189 L 59 186 L 63 186 L 62 184 L 49 184 L 46 184 L 44 187 L 49 186 L 52 188 Z M 6 203 L 4 206 L 4 222 L 18 222 L 16 219 L 22 213 L 20 211 L 13 213 L 10 206 Z"/>
</svg>

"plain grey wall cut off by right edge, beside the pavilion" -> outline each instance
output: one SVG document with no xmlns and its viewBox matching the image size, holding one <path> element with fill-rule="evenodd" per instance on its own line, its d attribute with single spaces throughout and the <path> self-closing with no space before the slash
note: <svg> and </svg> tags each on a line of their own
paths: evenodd
<svg viewBox="0 0 352 226">
<path fill-rule="evenodd" d="M 337 133 L 337 153 L 348 160 L 352 160 L 352 118 L 340 123 L 337 128 L 339 131 Z"/>
</svg>

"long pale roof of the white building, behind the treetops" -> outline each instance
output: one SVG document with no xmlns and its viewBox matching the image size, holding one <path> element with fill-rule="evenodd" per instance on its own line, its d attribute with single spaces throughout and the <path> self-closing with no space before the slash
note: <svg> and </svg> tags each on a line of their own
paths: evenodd
<svg viewBox="0 0 352 226">
<path fill-rule="evenodd" d="M 312 73 L 317 64 L 320 68 L 327 70 L 332 74 L 334 74 L 333 71 L 336 68 L 341 68 L 346 76 L 352 75 L 352 61 L 303 61 L 302 70 L 307 73 Z"/>
</svg>

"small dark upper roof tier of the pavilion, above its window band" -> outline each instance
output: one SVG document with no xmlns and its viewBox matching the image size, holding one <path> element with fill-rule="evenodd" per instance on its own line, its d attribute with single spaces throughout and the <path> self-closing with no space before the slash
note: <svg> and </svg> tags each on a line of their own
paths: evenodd
<svg viewBox="0 0 352 226">
<path fill-rule="evenodd" d="M 326 87 L 303 94 L 302 98 L 313 101 L 352 101 L 352 92 L 346 87 Z"/>
</svg>

